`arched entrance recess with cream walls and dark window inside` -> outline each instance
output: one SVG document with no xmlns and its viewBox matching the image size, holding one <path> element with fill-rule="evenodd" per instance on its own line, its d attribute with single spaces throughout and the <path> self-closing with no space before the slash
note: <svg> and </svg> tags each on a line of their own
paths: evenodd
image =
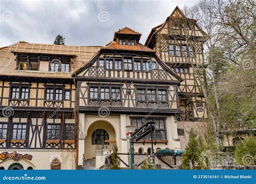
<svg viewBox="0 0 256 184">
<path fill-rule="evenodd" d="M 100 145 L 105 145 L 104 148 L 106 148 L 109 142 L 112 143 L 113 141 L 116 141 L 116 131 L 112 124 L 106 121 L 92 123 L 87 129 L 84 141 L 85 160 L 95 158 Z"/>
</svg>

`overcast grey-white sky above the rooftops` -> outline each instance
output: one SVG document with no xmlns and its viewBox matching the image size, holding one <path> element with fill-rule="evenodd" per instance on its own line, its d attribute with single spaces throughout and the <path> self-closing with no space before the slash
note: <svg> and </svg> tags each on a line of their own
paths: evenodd
<svg viewBox="0 0 256 184">
<path fill-rule="evenodd" d="M 130 27 L 144 44 L 152 27 L 163 23 L 178 5 L 196 1 L 1 1 L 0 47 L 27 41 L 52 44 L 57 34 L 65 45 L 103 46 L 113 33 Z"/>
</svg>

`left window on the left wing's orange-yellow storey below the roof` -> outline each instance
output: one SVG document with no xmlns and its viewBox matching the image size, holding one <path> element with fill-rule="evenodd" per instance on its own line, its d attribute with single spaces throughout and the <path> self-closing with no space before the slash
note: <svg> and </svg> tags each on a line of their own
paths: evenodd
<svg viewBox="0 0 256 184">
<path fill-rule="evenodd" d="M 28 100 L 29 99 L 29 87 L 12 86 L 11 87 L 11 99 L 13 99 L 13 100 Z"/>
</svg>

